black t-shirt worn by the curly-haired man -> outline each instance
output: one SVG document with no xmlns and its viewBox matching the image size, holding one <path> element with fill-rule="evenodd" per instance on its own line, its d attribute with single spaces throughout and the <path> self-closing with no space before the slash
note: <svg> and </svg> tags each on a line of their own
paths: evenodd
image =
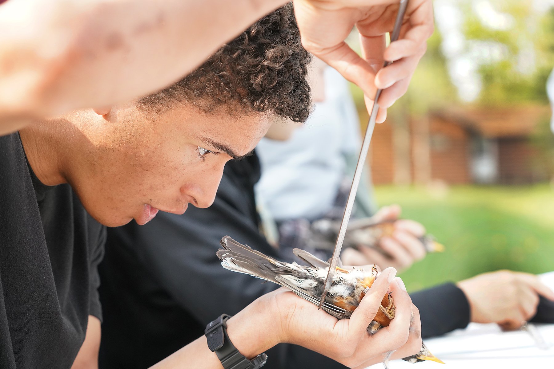
<svg viewBox="0 0 554 369">
<path fill-rule="evenodd" d="M 71 367 L 101 318 L 104 242 L 71 187 L 40 183 L 19 135 L 0 137 L 0 368 Z"/>
</svg>

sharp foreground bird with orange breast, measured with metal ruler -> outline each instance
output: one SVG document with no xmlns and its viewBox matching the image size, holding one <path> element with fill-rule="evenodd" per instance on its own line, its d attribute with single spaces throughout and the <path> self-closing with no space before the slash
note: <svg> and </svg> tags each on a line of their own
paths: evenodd
<svg viewBox="0 0 554 369">
<path fill-rule="evenodd" d="M 223 237 L 220 243 L 223 248 L 217 251 L 217 256 L 225 269 L 279 284 L 310 303 L 319 305 L 330 266 L 329 262 L 322 261 L 299 248 L 293 250 L 294 254 L 309 265 L 303 266 L 296 262 L 278 261 L 229 236 Z M 337 319 L 350 318 L 376 278 L 375 264 L 370 270 L 360 267 L 352 269 L 337 267 L 331 288 L 321 308 Z M 380 328 L 388 326 L 394 319 L 394 315 L 394 300 L 392 293 L 389 293 L 381 300 L 379 310 L 368 325 L 367 331 L 371 335 L 375 334 Z M 412 363 L 426 360 L 444 363 L 431 354 L 424 344 L 416 355 L 403 358 L 403 360 Z M 387 368 L 387 363 L 388 359 L 384 362 L 385 368 Z"/>
</svg>

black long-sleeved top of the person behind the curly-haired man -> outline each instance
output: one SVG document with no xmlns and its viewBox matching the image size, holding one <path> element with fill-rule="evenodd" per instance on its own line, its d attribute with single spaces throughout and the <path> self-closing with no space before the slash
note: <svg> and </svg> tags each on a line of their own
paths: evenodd
<svg viewBox="0 0 554 369">
<path fill-rule="evenodd" d="M 100 266 L 100 369 L 150 367 L 203 335 L 206 324 L 220 314 L 235 314 L 279 287 L 229 272 L 216 256 L 219 241 L 229 235 L 268 256 L 293 257 L 280 254 L 258 231 L 254 184 L 259 176 L 255 155 L 229 162 L 216 200 L 207 209 L 189 207 L 183 215 L 160 212 L 144 226 L 109 228 Z M 427 324 L 424 332 L 442 334 L 468 324 L 468 303 L 453 284 L 412 298 L 418 299 Z M 435 299 L 448 302 L 449 308 L 427 309 Z M 264 369 L 345 368 L 300 346 L 281 344 L 267 354 Z"/>
</svg>

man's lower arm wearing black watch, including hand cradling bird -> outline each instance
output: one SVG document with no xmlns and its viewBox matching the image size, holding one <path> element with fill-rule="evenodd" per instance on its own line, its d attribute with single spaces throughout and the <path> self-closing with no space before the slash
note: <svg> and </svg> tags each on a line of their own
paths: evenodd
<svg viewBox="0 0 554 369">
<path fill-rule="evenodd" d="M 278 289 L 258 298 L 229 319 L 229 338 L 249 358 L 280 342 L 304 346 L 351 368 L 365 368 L 381 362 L 392 350 L 396 350 L 392 359 L 411 356 L 421 347 L 419 312 L 402 281 L 394 278 L 395 275 L 393 268 L 385 269 L 351 318 L 338 321 L 292 292 Z M 391 292 L 396 317 L 388 327 L 370 336 L 366 328 L 377 313 L 383 296 Z M 78 359 L 98 355 L 100 326 L 89 324 L 89 328 Z M 78 367 L 78 364 L 76 360 L 73 369 L 93 367 Z M 94 365 L 98 365 L 97 362 Z M 222 367 L 217 355 L 209 351 L 204 336 L 158 362 L 152 369 L 190 367 Z"/>
</svg>

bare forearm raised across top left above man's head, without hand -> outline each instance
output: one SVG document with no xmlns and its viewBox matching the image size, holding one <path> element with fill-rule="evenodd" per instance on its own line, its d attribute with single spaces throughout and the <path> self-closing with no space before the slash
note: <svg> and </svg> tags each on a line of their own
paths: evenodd
<svg viewBox="0 0 554 369">
<path fill-rule="evenodd" d="M 33 116 L 160 90 L 283 3 L 8 1 L 0 6 L 0 134 Z"/>
</svg>

